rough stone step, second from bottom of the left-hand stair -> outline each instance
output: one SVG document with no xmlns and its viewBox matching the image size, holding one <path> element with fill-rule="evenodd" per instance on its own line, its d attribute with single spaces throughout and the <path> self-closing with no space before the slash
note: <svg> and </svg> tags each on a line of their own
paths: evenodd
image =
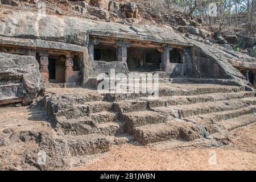
<svg viewBox="0 0 256 182">
<path fill-rule="evenodd" d="M 95 123 L 90 119 L 63 119 L 60 123 L 65 135 L 102 134 L 116 135 L 124 133 L 124 122 L 115 121 L 107 123 Z"/>
</svg>

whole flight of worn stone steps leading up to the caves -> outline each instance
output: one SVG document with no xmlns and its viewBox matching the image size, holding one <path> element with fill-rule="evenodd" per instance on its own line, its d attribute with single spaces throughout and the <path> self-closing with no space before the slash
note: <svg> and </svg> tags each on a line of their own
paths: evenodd
<svg viewBox="0 0 256 182">
<path fill-rule="evenodd" d="M 255 92 L 244 89 L 171 84 L 160 85 L 157 99 L 90 90 L 52 94 L 46 102 L 52 127 L 65 136 L 71 154 L 80 156 L 129 142 L 218 140 L 218 134 L 256 122 Z"/>
</svg>

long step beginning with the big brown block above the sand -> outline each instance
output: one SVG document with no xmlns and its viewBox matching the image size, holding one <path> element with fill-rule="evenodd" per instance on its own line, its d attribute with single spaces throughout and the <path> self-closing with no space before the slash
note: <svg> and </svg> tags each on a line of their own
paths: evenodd
<svg viewBox="0 0 256 182">
<path fill-rule="evenodd" d="M 148 144 L 166 140 L 192 141 L 256 122 L 256 106 L 198 115 L 169 122 L 135 127 L 134 138 Z"/>
</svg>

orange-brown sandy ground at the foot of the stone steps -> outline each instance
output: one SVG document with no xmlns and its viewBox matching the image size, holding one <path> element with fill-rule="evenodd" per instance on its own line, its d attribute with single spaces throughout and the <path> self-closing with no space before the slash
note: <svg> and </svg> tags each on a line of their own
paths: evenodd
<svg viewBox="0 0 256 182">
<path fill-rule="evenodd" d="M 125 144 L 73 170 L 255 170 L 255 131 L 256 123 L 234 130 L 232 143 L 221 148 L 158 150 Z"/>
</svg>

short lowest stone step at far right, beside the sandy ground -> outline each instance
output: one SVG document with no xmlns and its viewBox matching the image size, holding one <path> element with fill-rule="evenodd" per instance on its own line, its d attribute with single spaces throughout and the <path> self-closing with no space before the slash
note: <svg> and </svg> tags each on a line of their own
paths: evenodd
<svg viewBox="0 0 256 182">
<path fill-rule="evenodd" d="M 256 122 L 256 114 L 243 115 L 242 117 L 232 118 L 220 122 L 224 129 L 231 131 L 238 127 L 243 127 Z"/>
</svg>

